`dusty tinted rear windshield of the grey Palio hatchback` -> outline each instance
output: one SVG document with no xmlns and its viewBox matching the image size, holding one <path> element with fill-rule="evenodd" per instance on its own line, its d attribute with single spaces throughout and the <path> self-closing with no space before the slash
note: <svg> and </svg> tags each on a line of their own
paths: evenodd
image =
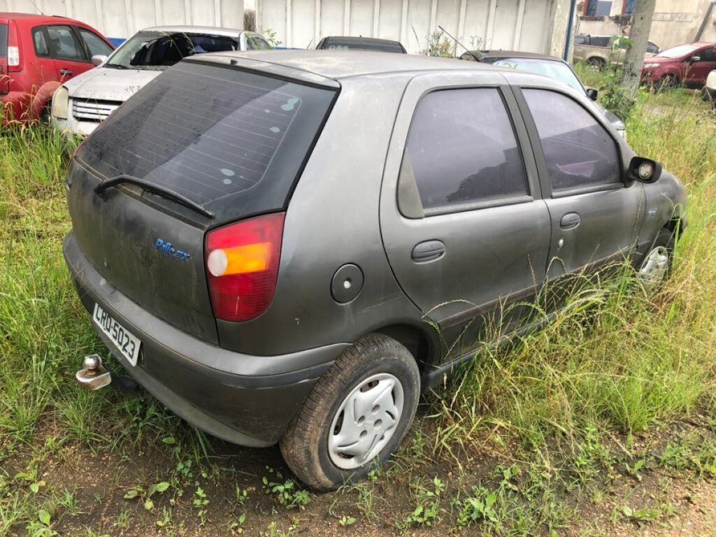
<svg viewBox="0 0 716 537">
<path fill-rule="evenodd" d="M 259 183 L 285 198 L 334 95 L 182 62 L 112 113 L 77 157 L 106 177 L 144 178 L 200 204 Z"/>
</svg>

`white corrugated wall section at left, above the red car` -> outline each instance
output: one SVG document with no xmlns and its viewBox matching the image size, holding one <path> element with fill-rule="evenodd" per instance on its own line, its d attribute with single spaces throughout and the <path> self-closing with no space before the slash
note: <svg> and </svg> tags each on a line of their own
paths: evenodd
<svg viewBox="0 0 716 537">
<path fill-rule="evenodd" d="M 69 16 L 124 39 L 160 24 L 243 28 L 243 0 L 0 0 L 0 11 Z"/>
</svg>

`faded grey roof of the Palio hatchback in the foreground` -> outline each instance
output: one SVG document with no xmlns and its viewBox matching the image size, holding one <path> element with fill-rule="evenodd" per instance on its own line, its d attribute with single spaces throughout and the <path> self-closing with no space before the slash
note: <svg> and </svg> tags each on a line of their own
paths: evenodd
<svg viewBox="0 0 716 537">
<path fill-rule="evenodd" d="M 289 67 L 324 79 L 364 77 L 372 74 L 402 72 L 445 72 L 465 70 L 513 71 L 478 62 L 460 62 L 453 58 L 418 56 L 417 54 L 376 54 L 362 50 L 252 50 L 250 52 L 212 52 L 198 54 L 185 61 L 244 59 Z"/>
</svg>

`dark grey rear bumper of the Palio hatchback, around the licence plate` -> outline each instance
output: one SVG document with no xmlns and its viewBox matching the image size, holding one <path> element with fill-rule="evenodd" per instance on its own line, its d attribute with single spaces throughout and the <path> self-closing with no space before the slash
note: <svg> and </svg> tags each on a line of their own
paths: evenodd
<svg viewBox="0 0 716 537">
<path fill-rule="evenodd" d="M 72 233 L 63 251 L 84 307 L 92 312 L 99 303 L 142 342 L 139 362 L 132 367 L 95 326 L 117 361 L 170 410 L 229 442 L 250 447 L 276 443 L 318 378 L 345 348 L 330 345 L 282 357 L 228 352 L 130 301 L 92 267 Z M 312 365 L 288 371 L 282 367 L 299 363 Z"/>
</svg>

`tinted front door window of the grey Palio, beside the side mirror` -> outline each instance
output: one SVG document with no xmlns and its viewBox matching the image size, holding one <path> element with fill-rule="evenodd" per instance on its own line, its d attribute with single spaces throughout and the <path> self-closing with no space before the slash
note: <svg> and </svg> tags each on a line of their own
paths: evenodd
<svg viewBox="0 0 716 537">
<path fill-rule="evenodd" d="M 614 138 L 581 105 L 545 89 L 523 89 L 537 126 L 553 190 L 621 181 Z"/>
</svg>

